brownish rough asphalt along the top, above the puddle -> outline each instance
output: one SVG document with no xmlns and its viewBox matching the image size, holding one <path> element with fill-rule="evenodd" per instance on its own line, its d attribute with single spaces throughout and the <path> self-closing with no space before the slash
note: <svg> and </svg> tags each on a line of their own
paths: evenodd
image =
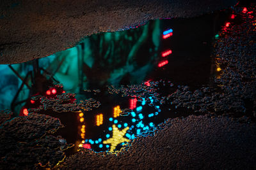
<svg viewBox="0 0 256 170">
<path fill-rule="evenodd" d="M 122 31 L 156 18 L 195 17 L 234 4 L 236 0 L 1 0 L 0 64 L 46 57 L 95 33 Z"/>
</svg>

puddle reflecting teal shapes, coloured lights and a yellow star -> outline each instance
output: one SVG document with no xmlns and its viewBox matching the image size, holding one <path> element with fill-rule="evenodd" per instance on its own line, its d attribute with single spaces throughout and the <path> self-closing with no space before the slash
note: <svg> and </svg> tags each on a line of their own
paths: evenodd
<svg viewBox="0 0 256 170">
<path fill-rule="evenodd" d="M 16 115 L 38 108 L 33 111 L 60 118 L 65 127 L 56 135 L 76 145 L 67 154 L 78 147 L 118 150 L 167 118 L 195 114 L 164 103 L 164 97 L 178 85 L 188 85 L 191 91 L 213 85 L 211 78 L 220 75 L 221 68 L 216 71 L 212 43 L 228 17 L 230 13 L 221 11 L 190 19 L 152 20 L 136 29 L 90 36 L 43 59 L 2 65 L 1 108 L 11 108 Z M 66 99 L 67 92 L 76 96 Z M 56 95 L 63 97 L 60 111 L 40 108 L 54 102 Z M 54 100 L 43 103 L 42 96 Z M 89 102 L 92 110 L 84 105 L 77 110 L 79 101 L 90 98 L 95 99 Z M 63 111 L 65 107 L 70 109 Z"/>
</svg>

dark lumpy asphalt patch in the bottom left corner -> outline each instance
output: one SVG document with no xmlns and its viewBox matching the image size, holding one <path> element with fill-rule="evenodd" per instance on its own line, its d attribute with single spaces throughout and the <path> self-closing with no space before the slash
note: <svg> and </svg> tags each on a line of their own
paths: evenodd
<svg viewBox="0 0 256 170">
<path fill-rule="evenodd" d="M 10 113 L 0 112 L 0 122 Z M 33 169 L 36 164 L 56 166 L 65 158 L 65 139 L 45 134 L 63 127 L 58 118 L 31 113 L 0 124 L 0 169 Z M 71 145 L 72 146 L 72 145 Z"/>
</svg>

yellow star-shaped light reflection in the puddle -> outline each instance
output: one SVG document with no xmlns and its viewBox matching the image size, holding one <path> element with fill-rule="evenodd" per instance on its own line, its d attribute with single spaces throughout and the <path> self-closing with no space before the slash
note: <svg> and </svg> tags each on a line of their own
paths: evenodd
<svg viewBox="0 0 256 170">
<path fill-rule="evenodd" d="M 116 146 L 119 143 L 128 142 L 129 139 L 124 138 L 124 135 L 126 131 L 129 129 L 129 127 L 125 127 L 122 131 L 119 131 L 116 125 L 112 125 L 113 128 L 113 136 L 112 138 L 109 138 L 106 141 L 103 141 L 104 144 L 110 144 L 110 150 L 109 152 L 113 152 L 116 148 Z"/>
</svg>

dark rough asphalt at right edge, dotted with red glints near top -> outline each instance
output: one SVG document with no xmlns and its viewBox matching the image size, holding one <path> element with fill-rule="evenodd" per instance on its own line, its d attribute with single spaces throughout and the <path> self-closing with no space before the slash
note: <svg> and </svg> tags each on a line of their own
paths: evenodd
<svg viewBox="0 0 256 170">
<path fill-rule="evenodd" d="M 256 15 L 241 10 L 235 10 L 241 23 L 232 22 L 214 45 L 216 64 L 222 69 L 220 78 L 214 78 L 217 87 L 194 92 L 180 87 L 168 96 L 171 104 L 202 113 L 256 117 Z M 248 10 L 255 11 L 255 6 Z"/>
</svg>

